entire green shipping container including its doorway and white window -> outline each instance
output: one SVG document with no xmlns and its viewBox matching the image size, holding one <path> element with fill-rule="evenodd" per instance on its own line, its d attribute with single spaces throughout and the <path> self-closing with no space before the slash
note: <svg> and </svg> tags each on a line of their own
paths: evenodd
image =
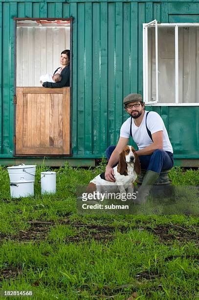
<svg viewBox="0 0 199 300">
<path fill-rule="evenodd" d="M 199 167 L 199 2 L 0 0 L 0 164 L 94 166 L 142 94 Z M 70 87 L 39 77 L 70 50 Z"/>
</svg>

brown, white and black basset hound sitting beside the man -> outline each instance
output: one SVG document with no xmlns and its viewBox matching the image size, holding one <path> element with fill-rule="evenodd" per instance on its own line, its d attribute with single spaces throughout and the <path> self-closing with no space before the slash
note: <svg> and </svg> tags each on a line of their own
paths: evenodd
<svg viewBox="0 0 199 300">
<path fill-rule="evenodd" d="M 107 181 L 105 174 L 99 174 L 92 179 L 87 187 L 87 193 L 110 192 L 128 193 L 133 188 L 137 174 L 141 173 L 138 155 L 132 146 L 126 146 L 119 155 L 119 162 L 113 168 L 115 182 Z"/>
</svg>

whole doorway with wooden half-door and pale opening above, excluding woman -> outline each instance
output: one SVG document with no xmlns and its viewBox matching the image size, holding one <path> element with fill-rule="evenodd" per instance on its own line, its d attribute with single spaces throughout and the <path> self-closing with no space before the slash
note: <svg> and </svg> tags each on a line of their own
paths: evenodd
<svg viewBox="0 0 199 300">
<path fill-rule="evenodd" d="M 15 20 L 15 156 L 70 155 L 70 87 L 44 88 L 40 76 L 71 51 L 72 19 Z"/>
</svg>

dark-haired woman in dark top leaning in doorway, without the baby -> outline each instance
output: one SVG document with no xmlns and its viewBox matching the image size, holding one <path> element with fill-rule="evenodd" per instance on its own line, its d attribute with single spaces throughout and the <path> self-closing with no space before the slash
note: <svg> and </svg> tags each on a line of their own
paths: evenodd
<svg viewBox="0 0 199 300">
<path fill-rule="evenodd" d="M 54 74 L 60 74 L 62 76 L 62 80 L 60 82 L 44 82 L 44 87 L 49 88 L 60 88 L 63 86 L 70 86 L 70 50 L 64 50 L 60 56 L 60 65 L 61 67 L 55 70 Z"/>
</svg>

